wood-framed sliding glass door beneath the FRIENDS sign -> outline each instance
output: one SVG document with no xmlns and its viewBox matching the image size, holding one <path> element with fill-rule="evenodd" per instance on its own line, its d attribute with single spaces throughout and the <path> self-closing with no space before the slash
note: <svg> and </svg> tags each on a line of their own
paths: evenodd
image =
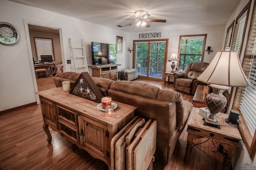
<svg viewBox="0 0 256 170">
<path fill-rule="evenodd" d="M 146 79 L 162 80 L 166 70 L 168 39 L 134 40 L 133 68 Z"/>
</svg>

